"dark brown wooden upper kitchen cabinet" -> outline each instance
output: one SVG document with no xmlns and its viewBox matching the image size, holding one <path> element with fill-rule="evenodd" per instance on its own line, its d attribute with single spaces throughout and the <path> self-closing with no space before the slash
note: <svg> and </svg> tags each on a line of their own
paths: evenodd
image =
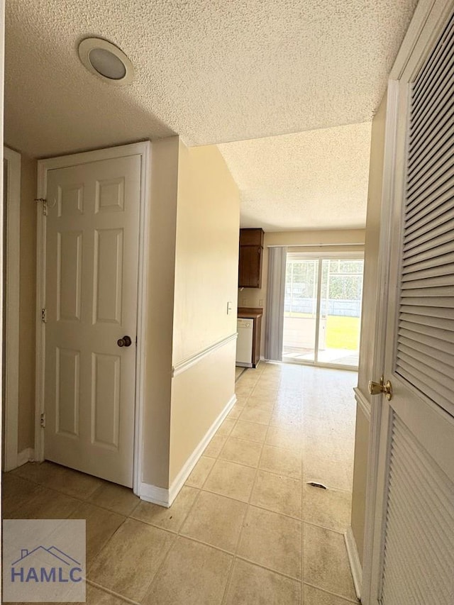
<svg viewBox="0 0 454 605">
<path fill-rule="evenodd" d="M 262 287 L 263 229 L 240 229 L 238 288 Z"/>
</svg>

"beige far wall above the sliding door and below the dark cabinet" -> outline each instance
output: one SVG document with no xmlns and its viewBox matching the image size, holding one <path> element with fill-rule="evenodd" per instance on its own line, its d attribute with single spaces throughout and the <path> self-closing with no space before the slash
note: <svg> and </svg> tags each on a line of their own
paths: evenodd
<svg viewBox="0 0 454 605">
<path fill-rule="evenodd" d="M 243 288 L 238 290 L 239 306 L 258 306 L 264 309 L 262 318 L 262 340 L 260 355 L 265 350 L 265 318 L 267 304 L 268 248 L 270 246 L 301 247 L 301 252 L 328 252 L 333 250 L 363 250 L 364 229 L 338 229 L 330 231 L 273 231 L 265 233 L 263 250 L 263 273 L 261 288 Z M 352 245 L 353 244 L 353 245 Z M 339 248 L 341 247 L 341 248 Z M 296 250 L 293 250 L 296 251 Z"/>
</svg>

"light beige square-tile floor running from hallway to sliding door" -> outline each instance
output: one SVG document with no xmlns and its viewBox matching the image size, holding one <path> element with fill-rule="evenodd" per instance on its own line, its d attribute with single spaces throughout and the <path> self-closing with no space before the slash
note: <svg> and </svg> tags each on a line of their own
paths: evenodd
<svg viewBox="0 0 454 605">
<path fill-rule="evenodd" d="M 343 540 L 355 380 L 263 363 L 241 374 L 170 509 L 44 462 L 4 475 L 4 517 L 87 519 L 91 605 L 355 603 Z"/>
</svg>

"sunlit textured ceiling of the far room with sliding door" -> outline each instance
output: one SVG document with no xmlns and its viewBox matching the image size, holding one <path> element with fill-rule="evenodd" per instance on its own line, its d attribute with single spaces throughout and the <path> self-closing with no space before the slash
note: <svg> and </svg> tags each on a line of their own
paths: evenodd
<svg viewBox="0 0 454 605">
<path fill-rule="evenodd" d="M 365 226 L 371 123 L 218 145 L 241 193 L 241 226 Z"/>
</svg>

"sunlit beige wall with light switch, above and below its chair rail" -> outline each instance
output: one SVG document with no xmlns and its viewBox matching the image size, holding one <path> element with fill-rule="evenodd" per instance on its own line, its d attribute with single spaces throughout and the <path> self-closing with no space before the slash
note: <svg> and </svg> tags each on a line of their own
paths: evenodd
<svg viewBox="0 0 454 605">
<path fill-rule="evenodd" d="M 180 143 L 174 365 L 236 333 L 239 219 L 238 188 L 218 148 Z M 230 341 L 173 379 L 170 483 L 233 397 L 235 353 Z"/>
</svg>

